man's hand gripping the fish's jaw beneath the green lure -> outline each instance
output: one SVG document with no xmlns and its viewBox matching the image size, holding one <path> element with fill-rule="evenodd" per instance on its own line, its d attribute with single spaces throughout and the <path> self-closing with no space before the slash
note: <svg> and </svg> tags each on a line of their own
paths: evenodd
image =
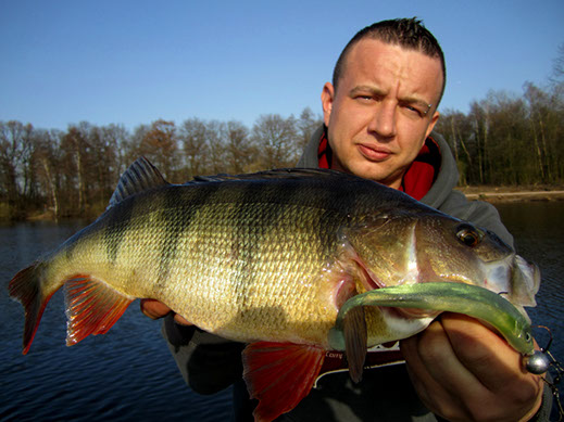
<svg viewBox="0 0 564 422">
<path fill-rule="evenodd" d="M 401 350 L 425 406 L 449 421 L 527 421 L 541 405 L 541 378 L 469 317 L 443 314 Z"/>
</svg>

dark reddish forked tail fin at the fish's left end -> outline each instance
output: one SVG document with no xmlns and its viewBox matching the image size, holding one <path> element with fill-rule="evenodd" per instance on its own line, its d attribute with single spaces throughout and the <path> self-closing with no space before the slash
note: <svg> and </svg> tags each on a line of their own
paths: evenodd
<svg viewBox="0 0 564 422">
<path fill-rule="evenodd" d="M 37 263 L 23 269 L 8 285 L 10 297 L 20 300 L 25 310 L 24 355 L 29 351 L 45 307 L 54 293 L 43 296 L 39 281 L 39 266 L 40 264 Z"/>
</svg>

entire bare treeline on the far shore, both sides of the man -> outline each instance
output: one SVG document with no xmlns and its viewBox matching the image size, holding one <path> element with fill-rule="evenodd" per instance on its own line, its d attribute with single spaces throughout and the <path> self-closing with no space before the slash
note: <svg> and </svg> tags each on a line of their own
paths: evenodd
<svg viewBox="0 0 564 422">
<path fill-rule="evenodd" d="M 196 175 L 293 166 L 321 123 L 310 108 L 298 118 L 262 115 L 250 129 L 199 118 L 179 126 L 160 119 L 133 132 L 86 122 L 65 131 L 0 122 L 0 218 L 92 218 L 141 155 L 179 183 Z M 467 114 L 442 111 L 436 131 L 451 145 L 460 184 L 564 182 L 564 82 L 526 84 L 522 97 L 492 91 Z"/>
</svg>

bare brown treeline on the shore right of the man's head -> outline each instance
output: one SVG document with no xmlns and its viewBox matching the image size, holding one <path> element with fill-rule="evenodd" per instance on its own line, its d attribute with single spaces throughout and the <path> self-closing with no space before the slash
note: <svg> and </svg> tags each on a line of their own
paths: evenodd
<svg viewBox="0 0 564 422">
<path fill-rule="evenodd" d="M 491 91 L 469 112 L 441 113 L 459 184 L 555 184 L 564 181 L 564 82 L 525 84 L 522 97 Z"/>
</svg>

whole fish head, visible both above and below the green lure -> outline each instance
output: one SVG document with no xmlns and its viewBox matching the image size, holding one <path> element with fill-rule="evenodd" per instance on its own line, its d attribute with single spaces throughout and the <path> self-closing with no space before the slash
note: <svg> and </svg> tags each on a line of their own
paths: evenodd
<svg viewBox="0 0 564 422">
<path fill-rule="evenodd" d="M 540 272 L 491 231 L 431 208 L 401 208 L 365 217 L 342 236 L 355 294 L 429 282 L 473 284 L 502 295 L 530 321 L 524 306 L 535 306 Z M 440 312 L 367 306 L 367 344 L 414 335 Z"/>
</svg>

